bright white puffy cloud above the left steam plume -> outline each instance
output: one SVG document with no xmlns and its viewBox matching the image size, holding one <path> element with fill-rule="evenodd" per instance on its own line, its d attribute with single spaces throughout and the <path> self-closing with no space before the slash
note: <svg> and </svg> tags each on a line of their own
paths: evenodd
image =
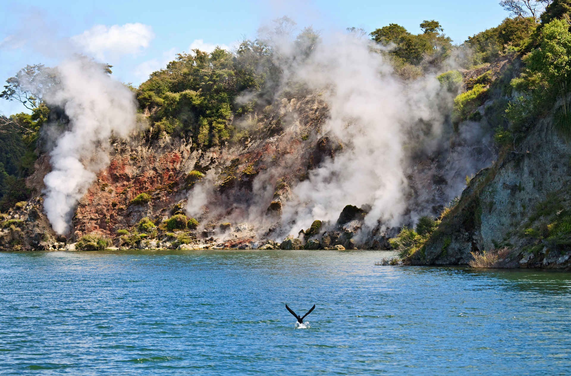
<svg viewBox="0 0 571 376">
<path fill-rule="evenodd" d="M 103 60 L 123 55 L 136 55 L 146 49 L 155 35 L 151 26 L 126 23 L 123 26 L 95 25 L 83 34 L 71 37 L 76 45 L 95 58 Z"/>
</svg>

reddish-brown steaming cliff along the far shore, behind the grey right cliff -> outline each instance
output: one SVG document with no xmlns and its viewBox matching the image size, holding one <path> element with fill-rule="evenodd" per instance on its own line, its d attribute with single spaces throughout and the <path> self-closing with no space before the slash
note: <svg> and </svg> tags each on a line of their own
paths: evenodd
<svg viewBox="0 0 571 376">
<path fill-rule="evenodd" d="M 3 218 L 2 246 L 69 248 L 83 235 L 96 234 L 113 239 L 114 246 L 136 248 L 388 249 L 387 239 L 398 227 L 377 223 L 363 231 L 371 210 L 367 202 L 332 202 L 339 207 L 339 218 L 333 221 L 319 217 L 307 225 L 295 219 L 284 221 L 284 212 L 295 199 L 292 188 L 308 179 L 313 169 L 354 146 L 321 133 L 328 106 L 319 93 L 282 98 L 276 107 L 256 115 L 255 132 L 240 146 L 205 150 L 167 134 L 155 140 L 145 133 L 112 138 L 107 149 L 110 163 L 79 201 L 73 231 L 66 236 L 55 234 L 43 213 L 43 178 L 50 171 L 49 155 L 43 154 L 27 179 L 37 195 Z M 459 175 L 456 181 L 464 180 L 463 171 L 455 166 L 456 157 L 466 157 L 468 150 L 476 153 L 470 158 L 479 158 L 480 164 L 490 159 L 489 153 L 481 152 L 481 138 L 458 139 L 463 142 L 408 167 L 409 209 L 404 221 L 410 223 L 415 210 L 437 215 L 449 201 L 453 175 Z M 148 199 L 137 201 L 140 194 Z M 176 215 L 194 216 L 199 225 L 169 230 L 164 223 Z M 140 226 L 147 218 L 156 230 L 152 236 L 146 234 L 151 232 L 148 227 Z"/>
</svg>

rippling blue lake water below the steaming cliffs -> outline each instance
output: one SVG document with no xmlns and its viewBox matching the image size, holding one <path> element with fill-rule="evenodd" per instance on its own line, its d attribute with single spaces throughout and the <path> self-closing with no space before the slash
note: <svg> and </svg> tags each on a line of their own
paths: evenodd
<svg viewBox="0 0 571 376">
<path fill-rule="evenodd" d="M 2 253 L 0 374 L 571 374 L 571 274 L 386 256 Z"/>
</svg>

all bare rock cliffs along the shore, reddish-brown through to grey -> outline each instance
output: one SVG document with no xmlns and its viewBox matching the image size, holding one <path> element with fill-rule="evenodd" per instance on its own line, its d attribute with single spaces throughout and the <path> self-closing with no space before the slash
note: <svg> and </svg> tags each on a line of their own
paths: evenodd
<svg viewBox="0 0 571 376">
<path fill-rule="evenodd" d="M 307 210 L 309 203 L 299 197 L 307 188 L 300 187 L 312 179 L 350 187 L 353 182 L 344 180 L 342 169 L 324 166 L 355 155 L 362 146 L 328 131 L 332 114 L 327 98 L 307 91 L 248 114 L 254 126 L 239 143 L 198 147 L 190 138 L 153 125 L 129 137 L 111 137 L 109 147 L 102 148 L 109 163 L 79 200 L 65 235 L 51 229 L 44 213 L 43 181 L 51 166 L 49 154 L 42 154 L 26 181 L 34 198 L 3 214 L 0 245 L 16 250 L 76 245 L 389 249 L 388 240 L 401 227 L 428 215 L 441 222 L 405 263 L 467 264 L 487 251 L 485 266 L 567 268 L 569 231 L 561 229 L 571 226 L 568 141 L 550 118 L 538 119 L 517 149 L 500 150 L 492 139 L 496 103 L 506 101 L 497 87 L 517 77 L 517 67 L 518 59 L 508 56 L 461 71 L 464 93 L 475 82 L 485 83 L 485 102 L 460 122 L 445 118 L 428 149 L 415 144 L 414 137 L 403 145 L 404 210 L 397 225 L 367 222 L 373 205 L 366 200 L 329 202 L 335 217 L 323 218 L 315 207 Z M 144 109 L 143 117 L 151 113 Z M 377 163 L 373 167 L 378 170 L 389 167 L 383 160 Z M 356 175 L 347 171 L 347 176 Z M 359 190 L 359 180 L 354 183 Z M 455 195 L 460 198 L 450 205 Z M 312 217 L 301 215 L 304 210 Z"/>
</svg>

